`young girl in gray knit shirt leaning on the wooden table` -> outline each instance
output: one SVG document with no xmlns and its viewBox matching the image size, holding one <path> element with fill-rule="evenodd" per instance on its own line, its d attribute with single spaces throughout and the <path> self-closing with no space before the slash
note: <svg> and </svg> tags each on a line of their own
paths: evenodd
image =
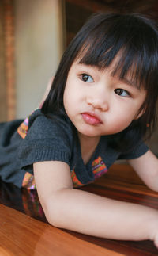
<svg viewBox="0 0 158 256">
<path fill-rule="evenodd" d="M 156 25 L 136 14 L 94 15 L 63 55 L 42 108 L 22 124 L 1 124 L 2 180 L 36 183 L 56 227 L 158 247 L 155 209 L 74 189 L 127 159 L 158 191 L 158 159 L 142 141 L 156 124 L 157 97 Z"/>
</svg>

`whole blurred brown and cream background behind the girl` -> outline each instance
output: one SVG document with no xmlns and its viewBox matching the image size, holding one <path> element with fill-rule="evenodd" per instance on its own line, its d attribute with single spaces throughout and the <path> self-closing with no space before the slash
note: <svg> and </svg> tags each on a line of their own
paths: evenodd
<svg viewBox="0 0 158 256">
<path fill-rule="evenodd" d="M 64 49 L 100 11 L 157 19 L 158 1 L 0 0 L 0 121 L 27 117 L 38 107 Z M 149 146 L 158 155 L 158 131 Z"/>
</svg>

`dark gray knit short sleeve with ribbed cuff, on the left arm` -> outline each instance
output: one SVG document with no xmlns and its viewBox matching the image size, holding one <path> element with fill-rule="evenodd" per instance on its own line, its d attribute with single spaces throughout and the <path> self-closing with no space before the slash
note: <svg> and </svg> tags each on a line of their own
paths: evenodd
<svg viewBox="0 0 158 256">
<path fill-rule="evenodd" d="M 70 164 L 72 135 L 62 118 L 34 114 L 29 118 L 27 136 L 18 150 L 21 168 L 34 162 L 62 161 Z"/>
</svg>

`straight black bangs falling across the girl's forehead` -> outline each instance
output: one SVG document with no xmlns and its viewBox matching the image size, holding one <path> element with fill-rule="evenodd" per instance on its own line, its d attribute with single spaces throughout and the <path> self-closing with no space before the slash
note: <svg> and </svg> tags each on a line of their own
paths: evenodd
<svg viewBox="0 0 158 256">
<path fill-rule="evenodd" d="M 114 21 L 116 20 L 116 21 Z M 145 21 L 132 17 L 117 17 L 88 33 L 77 59 L 79 63 L 100 69 L 111 67 L 111 75 L 120 80 L 128 78 L 135 86 L 149 90 L 158 68 L 156 31 Z M 153 81 L 152 81 L 153 80 Z"/>
</svg>

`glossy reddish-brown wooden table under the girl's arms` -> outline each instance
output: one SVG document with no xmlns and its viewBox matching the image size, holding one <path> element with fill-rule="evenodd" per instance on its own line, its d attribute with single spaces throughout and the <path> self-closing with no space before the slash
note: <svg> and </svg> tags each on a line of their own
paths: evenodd
<svg viewBox="0 0 158 256">
<path fill-rule="evenodd" d="M 81 189 L 158 208 L 158 193 L 148 189 L 125 164 L 115 164 L 102 178 Z M 44 217 L 36 191 L 17 189 L 1 181 L 0 255 L 144 256 L 158 255 L 158 250 L 151 241 L 99 239 L 51 227 Z"/>
</svg>

